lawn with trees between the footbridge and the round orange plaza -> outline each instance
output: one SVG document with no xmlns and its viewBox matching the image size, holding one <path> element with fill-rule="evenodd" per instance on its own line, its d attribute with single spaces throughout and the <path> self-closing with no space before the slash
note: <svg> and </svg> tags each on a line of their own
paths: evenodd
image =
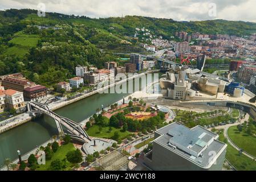
<svg viewBox="0 0 256 182">
<path fill-rule="evenodd" d="M 129 131 L 122 132 L 122 129 L 116 129 L 115 127 L 112 127 L 112 131 L 109 133 L 109 127 L 103 127 L 101 133 L 99 133 L 99 126 L 93 125 L 90 127 L 90 129 L 86 130 L 87 134 L 91 137 L 97 137 L 97 138 L 107 138 L 111 139 L 113 135 L 115 134 L 115 131 L 119 131 L 119 139 L 127 138 L 132 133 Z"/>
</svg>

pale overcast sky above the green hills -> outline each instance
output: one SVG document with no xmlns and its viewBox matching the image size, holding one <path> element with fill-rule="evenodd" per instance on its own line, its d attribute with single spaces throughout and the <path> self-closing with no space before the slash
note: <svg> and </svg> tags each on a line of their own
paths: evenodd
<svg viewBox="0 0 256 182">
<path fill-rule="evenodd" d="M 0 0 L 0 9 L 38 9 L 39 3 L 44 3 L 46 12 L 91 18 L 141 15 L 174 20 L 256 22 L 255 0 Z"/>
</svg>

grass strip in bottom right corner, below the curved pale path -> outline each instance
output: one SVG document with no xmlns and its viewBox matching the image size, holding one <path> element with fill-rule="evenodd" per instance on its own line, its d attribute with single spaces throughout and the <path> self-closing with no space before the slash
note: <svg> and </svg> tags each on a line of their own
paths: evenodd
<svg viewBox="0 0 256 182">
<path fill-rule="evenodd" d="M 224 142 L 225 137 L 223 131 L 219 133 L 219 140 Z M 256 170 L 256 162 L 252 159 L 248 158 L 245 155 L 238 155 L 238 151 L 235 150 L 228 142 L 227 144 L 227 153 L 226 159 L 238 170 L 238 171 L 255 171 Z"/>
</svg>

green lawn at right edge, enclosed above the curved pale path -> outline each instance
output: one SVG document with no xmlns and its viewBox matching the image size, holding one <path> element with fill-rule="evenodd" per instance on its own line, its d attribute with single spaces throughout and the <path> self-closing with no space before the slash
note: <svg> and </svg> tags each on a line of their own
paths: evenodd
<svg viewBox="0 0 256 182">
<path fill-rule="evenodd" d="M 253 130 L 256 130 L 255 127 Z M 239 132 L 236 126 L 230 127 L 227 131 L 229 138 L 244 151 L 256 156 L 256 137 L 246 134 L 245 132 Z"/>
</svg>

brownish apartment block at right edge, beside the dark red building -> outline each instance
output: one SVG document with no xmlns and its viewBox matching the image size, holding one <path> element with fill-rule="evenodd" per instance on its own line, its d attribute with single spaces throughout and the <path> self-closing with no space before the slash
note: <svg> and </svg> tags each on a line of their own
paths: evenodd
<svg viewBox="0 0 256 182">
<path fill-rule="evenodd" d="M 238 69 L 237 76 L 238 78 L 245 82 L 246 84 L 250 83 L 251 76 L 256 74 L 256 65 L 242 64 L 241 68 Z"/>
</svg>

